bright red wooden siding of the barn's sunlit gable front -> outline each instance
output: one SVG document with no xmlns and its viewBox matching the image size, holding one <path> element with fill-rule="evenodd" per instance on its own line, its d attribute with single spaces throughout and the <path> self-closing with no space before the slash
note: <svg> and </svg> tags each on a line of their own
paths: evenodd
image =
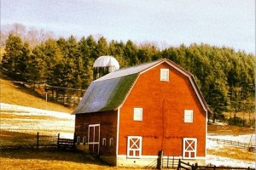
<svg viewBox="0 0 256 170">
<path fill-rule="evenodd" d="M 160 68 L 170 69 L 169 82 L 160 82 Z M 133 121 L 133 108 L 143 108 L 143 121 Z M 194 122 L 184 122 L 184 110 Z M 205 156 L 206 113 L 189 78 L 163 63 L 141 74 L 120 108 L 119 155 L 126 155 L 127 137 L 143 137 L 143 156 L 182 156 L 183 138 L 197 138 L 197 156 Z"/>
</svg>

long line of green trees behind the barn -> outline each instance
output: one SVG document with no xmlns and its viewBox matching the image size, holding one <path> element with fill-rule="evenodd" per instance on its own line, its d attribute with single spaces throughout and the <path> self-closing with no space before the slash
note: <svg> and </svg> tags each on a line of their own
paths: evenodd
<svg viewBox="0 0 256 170">
<path fill-rule="evenodd" d="M 205 43 L 160 49 L 154 43 L 136 44 L 131 40 L 107 41 L 105 37 L 48 37 L 32 43 L 19 34 L 9 32 L 4 41 L 2 66 L 9 77 L 38 84 L 56 98 L 82 96 L 93 78 L 92 65 L 102 55 L 112 55 L 120 67 L 138 65 L 156 59 L 171 59 L 191 72 L 214 112 L 213 119 L 224 118 L 224 111 L 252 113 L 254 109 L 254 55 L 228 47 Z M 53 88 L 61 87 L 61 88 Z"/>
</svg>

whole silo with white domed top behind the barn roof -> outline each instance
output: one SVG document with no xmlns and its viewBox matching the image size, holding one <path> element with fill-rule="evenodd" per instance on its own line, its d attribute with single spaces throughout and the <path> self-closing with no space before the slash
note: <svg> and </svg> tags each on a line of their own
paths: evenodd
<svg viewBox="0 0 256 170">
<path fill-rule="evenodd" d="M 109 72 L 119 70 L 119 67 L 119 62 L 116 59 L 109 55 L 103 55 L 97 58 L 93 64 L 93 78 L 96 80 Z"/>
</svg>

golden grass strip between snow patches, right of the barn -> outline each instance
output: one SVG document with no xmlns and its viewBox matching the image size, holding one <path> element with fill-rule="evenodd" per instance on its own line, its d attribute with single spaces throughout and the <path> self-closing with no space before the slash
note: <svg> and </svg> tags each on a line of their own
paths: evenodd
<svg viewBox="0 0 256 170">
<path fill-rule="evenodd" d="M 255 161 L 255 153 L 248 152 L 244 148 L 224 147 L 221 150 L 207 150 L 207 154 L 213 156 L 223 156 L 243 161 Z"/>
</svg>

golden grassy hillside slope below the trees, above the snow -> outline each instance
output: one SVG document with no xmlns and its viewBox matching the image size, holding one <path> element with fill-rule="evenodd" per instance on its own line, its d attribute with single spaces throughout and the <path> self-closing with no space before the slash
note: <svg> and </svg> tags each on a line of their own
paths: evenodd
<svg viewBox="0 0 256 170">
<path fill-rule="evenodd" d="M 58 105 L 51 102 L 46 103 L 45 99 L 36 96 L 36 94 L 30 92 L 27 88 L 22 88 L 20 86 L 15 85 L 14 82 L 11 82 L 6 78 L 3 78 L 3 75 L 1 75 L 0 78 L 0 87 L 1 103 L 23 105 L 49 111 L 61 111 L 67 113 L 73 112 L 72 109 L 69 109 L 63 105 Z"/>
</svg>

